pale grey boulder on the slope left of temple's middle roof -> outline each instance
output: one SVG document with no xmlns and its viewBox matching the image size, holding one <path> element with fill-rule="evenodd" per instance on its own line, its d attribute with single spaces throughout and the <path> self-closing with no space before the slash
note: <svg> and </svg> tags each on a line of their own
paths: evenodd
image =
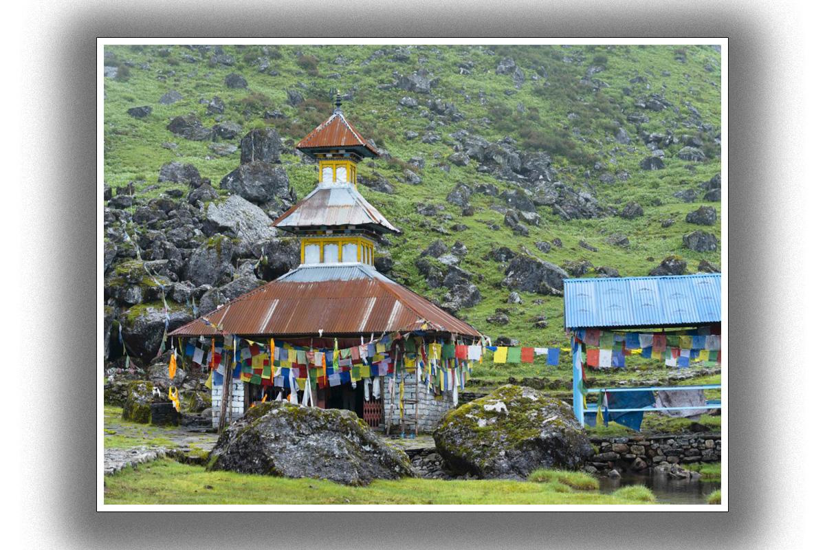
<svg viewBox="0 0 825 550">
<path fill-rule="evenodd" d="M 246 249 L 278 235 L 278 230 L 271 227 L 272 220 L 266 212 L 241 195 L 229 195 L 227 200 L 210 202 L 206 220 L 210 224 L 210 233 L 238 237 L 238 244 Z"/>
</svg>

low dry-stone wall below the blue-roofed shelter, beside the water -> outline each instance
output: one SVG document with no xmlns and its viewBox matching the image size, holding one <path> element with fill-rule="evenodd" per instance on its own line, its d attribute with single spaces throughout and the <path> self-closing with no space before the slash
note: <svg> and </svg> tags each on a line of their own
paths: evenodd
<svg viewBox="0 0 825 550">
<path fill-rule="evenodd" d="M 695 462 L 719 462 L 722 458 L 722 435 L 634 435 L 632 437 L 592 437 L 599 451 L 587 461 L 588 472 L 645 472 L 660 463 L 686 465 Z"/>
</svg>

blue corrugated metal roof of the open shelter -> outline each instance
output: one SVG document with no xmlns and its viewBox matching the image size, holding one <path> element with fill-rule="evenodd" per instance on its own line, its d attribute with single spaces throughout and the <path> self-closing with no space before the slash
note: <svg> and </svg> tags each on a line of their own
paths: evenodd
<svg viewBox="0 0 825 550">
<path fill-rule="evenodd" d="M 666 327 L 722 321 L 722 275 L 564 280 L 564 327 Z"/>
</svg>

